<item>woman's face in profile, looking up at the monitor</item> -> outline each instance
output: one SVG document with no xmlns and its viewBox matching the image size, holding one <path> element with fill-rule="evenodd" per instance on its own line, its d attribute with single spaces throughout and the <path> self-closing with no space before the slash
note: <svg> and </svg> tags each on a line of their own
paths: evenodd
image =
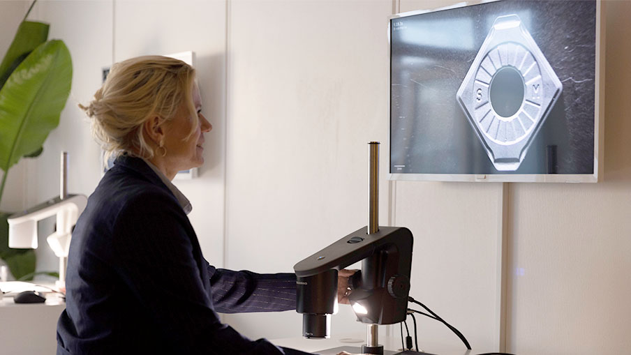
<svg viewBox="0 0 631 355">
<path fill-rule="evenodd" d="M 195 124 L 193 117 L 188 114 L 186 105 L 182 104 L 179 113 L 171 121 L 164 123 L 164 148 L 166 154 L 163 157 L 164 165 L 168 173 L 175 173 L 181 170 L 188 170 L 193 167 L 200 167 L 204 163 L 204 133 L 212 130 L 212 125 L 202 114 L 202 98 L 197 84 L 193 84 L 193 104 L 197 111 L 199 123 L 197 129 L 191 133 L 191 126 Z M 187 138 L 188 137 L 188 138 Z M 158 149 L 156 153 L 160 153 Z"/>
</svg>

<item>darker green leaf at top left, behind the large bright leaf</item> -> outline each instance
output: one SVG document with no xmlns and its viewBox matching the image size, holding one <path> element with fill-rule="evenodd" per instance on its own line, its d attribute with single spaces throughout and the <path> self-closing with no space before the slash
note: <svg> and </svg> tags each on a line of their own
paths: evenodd
<svg viewBox="0 0 631 355">
<path fill-rule="evenodd" d="M 20 27 L 17 27 L 13 42 L 0 63 L 0 88 L 29 53 L 46 42 L 49 27 L 48 24 L 30 21 L 23 21 Z"/>
</svg>

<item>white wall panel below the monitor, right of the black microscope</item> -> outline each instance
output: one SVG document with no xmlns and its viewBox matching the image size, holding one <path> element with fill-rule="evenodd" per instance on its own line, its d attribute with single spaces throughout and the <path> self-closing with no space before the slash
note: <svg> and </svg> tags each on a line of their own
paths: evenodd
<svg viewBox="0 0 631 355">
<path fill-rule="evenodd" d="M 473 349 L 498 346 L 501 191 L 501 183 L 396 183 L 396 225 L 414 235 L 410 296 L 458 328 Z M 425 317 L 419 334 L 420 343 L 460 342 L 443 324 Z"/>
</svg>

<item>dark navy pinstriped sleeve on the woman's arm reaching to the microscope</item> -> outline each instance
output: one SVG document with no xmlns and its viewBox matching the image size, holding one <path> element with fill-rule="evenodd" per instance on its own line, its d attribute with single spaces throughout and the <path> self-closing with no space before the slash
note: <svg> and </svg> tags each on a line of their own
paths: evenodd
<svg viewBox="0 0 631 355">
<path fill-rule="evenodd" d="M 217 312 L 279 312 L 296 309 L 296 275 L 253 273 L 208 266 L 211 299 Z"/>
</svg>

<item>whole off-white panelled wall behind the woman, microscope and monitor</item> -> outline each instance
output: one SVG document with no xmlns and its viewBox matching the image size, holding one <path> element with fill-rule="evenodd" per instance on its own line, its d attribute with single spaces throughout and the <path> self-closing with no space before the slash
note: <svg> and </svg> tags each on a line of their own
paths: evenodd
<svg viewBox="0 0 631 355">
<path fill-rule="evenodd" d="M 193 50 L 214 130 L 200 178 L 178 186 L 193 202 L 191 221 L 211 263 L 290 271 L 299 259 L 366 225 L 366 142 L 378 140 L 380 224 L 415 234 L 415 298 L 473 347 L 496 347 L 498 241 L 507 223 L 506 350 L 627 353 L 631 2 L 607 1 L 603 182 L 512 183 L 506 192 L 500 183 L 389 183 L 387 16 L 453 2 L 38 3 L 35 15 L 52 22 L 52 37 L 66 40 L 73 54 L 73 93 L 44 155 L 24 166 L 26 184 L 10 180 L 11 199 L 24 199 L 15 193 L 24 189 L 23 204 L 57 193 L 59 149 L 72 156 L 70 192 L 89 194 L 99 178 L 98 148 L 75 102 L 89 100 L 112 59 Z M 20 4 L 0 8 L 20 12 Z M 17 22 L 0 26 L 14 31 Z M 334 317 L 334 333 L 363 331 L 352 319 L 344 308 Z M 253 338 L 279 338 L 298 336 L 301 317 L 283 312 L 225 321 Z M 459 342 L 429 319 L 420 320 L 420 340 Z"/>
</svg>

